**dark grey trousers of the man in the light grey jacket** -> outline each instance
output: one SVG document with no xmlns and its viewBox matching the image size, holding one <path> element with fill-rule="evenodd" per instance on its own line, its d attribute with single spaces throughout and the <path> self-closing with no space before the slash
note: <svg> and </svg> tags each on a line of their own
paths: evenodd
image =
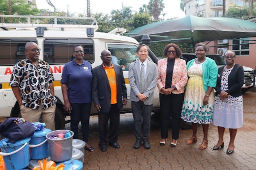
<svg viewBox="0 0 256 170">
<path fill-rule="evenodd" d="M 143 128 L 143 139 L 150 135 L 150 118 L 153 105 L 145 105 L 143 102 L 132 102 L 131 109 L 134 122 L 134 135 L 141 137 L 141 125 Z"/>
</svg>

